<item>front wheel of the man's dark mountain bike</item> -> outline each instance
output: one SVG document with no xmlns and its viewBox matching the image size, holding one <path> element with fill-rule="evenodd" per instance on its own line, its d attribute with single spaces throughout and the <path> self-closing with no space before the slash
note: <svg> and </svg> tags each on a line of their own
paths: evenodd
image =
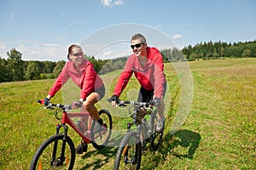
<svg viewBox="0 0 256 170">
<path fill-rule="evenodd" d="M 119 149 L 114 160 L 114 168 L 139 169 L 142 161 L 142 143 L 136 131 L 130 131 L 119 144 Z"/>
</svg>

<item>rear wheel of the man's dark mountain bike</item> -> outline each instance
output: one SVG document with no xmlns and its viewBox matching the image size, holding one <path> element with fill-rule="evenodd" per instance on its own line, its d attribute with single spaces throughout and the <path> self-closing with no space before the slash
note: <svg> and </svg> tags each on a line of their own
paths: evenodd
<svg viewBox="0 0 256 170">
<path fill-rule="evenodd" d="M 156 111 L 156 110 L 155 110 Z M 151 148 L 153 150 L 157 150 L 159 148 L 159 145 L 162 143 L 162 139 L 163 139 L 163 132 L 159 133 L 156 131 L 156 125 L 157 125 L 157 116 L 156 116 L 156 112 L 154 112 L 154 114 L 152 115 L 153 117 L 151 117 L 150 123 L 153 123 L 153 133 L 151 136 Z"/>
</svg>

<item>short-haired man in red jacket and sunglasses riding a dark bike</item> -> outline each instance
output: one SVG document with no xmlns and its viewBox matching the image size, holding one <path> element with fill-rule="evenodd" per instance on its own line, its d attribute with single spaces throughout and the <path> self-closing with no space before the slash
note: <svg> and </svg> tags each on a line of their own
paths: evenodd
<svg viewBox="0 0 256 170">
<path fill-rule="evenodd" d="M 162 132 L 165 126 L 163 98 L 166 94 L 166 76 L 162 55 L 157 48 L 147 46 L 146 38 L 142 34 L 131 37 L 133 54 L 127 59 L 125 68 L 113 90 L 111 97 L 113 105 L 119 101 L 119 95 L 125 89 L 134 73 L 141 85 L 138 101 L 148 102 L 154 99 L 159 113 L 157 131 Z"/>
</svg>

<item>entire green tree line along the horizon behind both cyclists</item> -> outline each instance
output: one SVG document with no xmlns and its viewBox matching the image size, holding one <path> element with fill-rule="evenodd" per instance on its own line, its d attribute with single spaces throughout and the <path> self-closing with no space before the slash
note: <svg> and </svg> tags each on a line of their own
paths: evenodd
<svg viewBox="0 0 256 170">
<path fill-rule="evenodd" d="M 160 49 L 165 62 L 195 59 L 218 59 L 228 57 L 256 57 L 256 41 L 253 42 L 201 42 L 195 46 L 189 45 L 182 50 L 178 48 Z M 22 54 L 15 48 L 8 53 L 8 59 L 0 57 L 0 82 L 14 82 L 55 78 L 60 74 L 64 60 L 54 61 L 24 61 Z M 98 74 L 123 69 L 128 56 L 117 59 L 95 59 L 84 55 L 95 67 Z"/>
</svg>

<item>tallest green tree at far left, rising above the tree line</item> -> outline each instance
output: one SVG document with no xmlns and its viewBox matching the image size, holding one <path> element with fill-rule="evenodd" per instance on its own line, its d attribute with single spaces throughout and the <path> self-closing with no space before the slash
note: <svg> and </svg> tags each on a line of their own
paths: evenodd
<svg viewBox="0 0 256 170">
<path fill-rule="evenodd" d="M 8 68 L 10 74 L 13 77 L 12 81 L 22 81 L 24 80 L 24 61 L 21 59 L 21 53 L 15 48 L 12 48 L 8 53 Z"/>
</svg>

